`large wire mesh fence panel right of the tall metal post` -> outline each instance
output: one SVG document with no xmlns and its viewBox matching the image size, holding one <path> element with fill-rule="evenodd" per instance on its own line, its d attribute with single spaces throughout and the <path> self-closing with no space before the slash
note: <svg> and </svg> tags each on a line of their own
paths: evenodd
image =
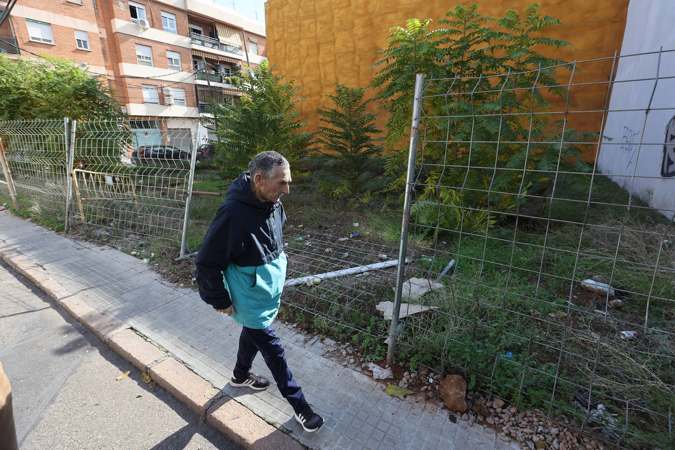
<svg viewBox="0 0 675 450">
<path fill-rule="evenodd" d="M 401 318 L 399 358 L 621 445 L 672 443 L 675 208 L 658 198 L 672 194 L 659 165 L 675 164 L 675 132 L 663 140 L 675 103 L 663 58 L 425 81 L 399 288 L 429 309 Z M 603 109 L 575 109 L 598 92 Z"/>
</svg>

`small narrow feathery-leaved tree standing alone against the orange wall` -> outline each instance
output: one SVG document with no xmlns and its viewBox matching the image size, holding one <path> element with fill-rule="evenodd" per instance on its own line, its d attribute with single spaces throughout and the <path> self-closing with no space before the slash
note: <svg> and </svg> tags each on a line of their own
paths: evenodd
<svg viewBox="0 0 675 450">
<path fill-rule="evenodd" d="M 381 138 L 373 138 L 382 131 L 375 128 L 375 114 L 367 112 L 373 99 L 363 100 L 365 88 L 348 88 L 335 84 L 335 94 L 327 95 L 335 108 L 317 109 L 319 120 L 327 126 L 319 127 L 321 152 L 329 161 L 323 167 L 319 191 L 333 196 L 360 196 L 375 180 L 369 169 L 373 155 L 382 148 Z"/>
</svg>

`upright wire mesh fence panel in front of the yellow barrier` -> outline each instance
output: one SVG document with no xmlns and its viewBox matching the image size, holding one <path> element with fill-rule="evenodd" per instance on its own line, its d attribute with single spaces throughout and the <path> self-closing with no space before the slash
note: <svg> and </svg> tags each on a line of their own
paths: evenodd
<svg viewBox="0 0 675 450">
<path fill-rule="evenodd" d="M 77 123 L 72 229 L 122 247 L 180 243 L 194 173 L 195 122 L 144 118 Z"/>
</svg>

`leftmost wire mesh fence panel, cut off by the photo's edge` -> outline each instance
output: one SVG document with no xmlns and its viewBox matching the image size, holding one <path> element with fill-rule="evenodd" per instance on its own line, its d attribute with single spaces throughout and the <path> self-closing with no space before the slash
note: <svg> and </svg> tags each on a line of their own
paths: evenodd
<svg viewBox="0 0 675 450">
<path fill-rule="evenodd" d="M 55 223 L 65 218 L 67 130 L 63 120 L 0 122 L 5 159 L 20 204 Z M 5 177 L 0 179 L 0 192 L 9 198 Z"/>
</svg>

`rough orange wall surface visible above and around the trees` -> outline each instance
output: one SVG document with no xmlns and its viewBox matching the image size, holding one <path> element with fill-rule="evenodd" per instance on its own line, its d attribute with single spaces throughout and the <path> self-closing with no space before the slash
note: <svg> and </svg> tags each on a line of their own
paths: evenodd
<svg viewBox="0 0 675 450">
<path fill-rule="evenodd" d="M 302 86 L 300 117 L 315 131 L 319 119 L 315 110 L 329 105 L 325 94 L 334 92 L 335 82 L 350 87 L 365 87 L 375 76 L 377 51 L 386 47 L 389 28 L 404 26 L 410 18 L 434 20 L 443 18 L 456 4 L 477 3 L 483 16 L 500 18 L 509 8 L 524 13 L 533 0 L 268 0 L 265 4 L 267 23 L 267 57 L 276 65 L 274 73 L 294 79 Z M 572 49 L 545 50 L 545 55 L 564 61 L 583 61 L 610 57 L 597 63 L 580 66 L 574 82 L 607 81 L 612 69 L 614 51 L 621 47 L 628 0 L 540 0 L 542 15 L 558 18 L 561 26 L 545 30 L 547 36 L 567 40 Z M 568 80 L 569 73 L 561 76 Z M 578 88 L 572 91 L 575 111 L 602 109 L 607 85 Z M 562 105 L 561 107 L 564 107 Z M 558 109 L 558 105 L 556 105 Z M 375 105 L 373 105 L 373 112 Z M 385 117 L 380 113 L 379 123 Z M 599 132 L 601 113 L 577 114 L 570 123 L 578 130 Z M 591 154 L 587 155 L 592 158 Z M 589 158 L 589 159 L 590 159 Z"/>
</svg>

